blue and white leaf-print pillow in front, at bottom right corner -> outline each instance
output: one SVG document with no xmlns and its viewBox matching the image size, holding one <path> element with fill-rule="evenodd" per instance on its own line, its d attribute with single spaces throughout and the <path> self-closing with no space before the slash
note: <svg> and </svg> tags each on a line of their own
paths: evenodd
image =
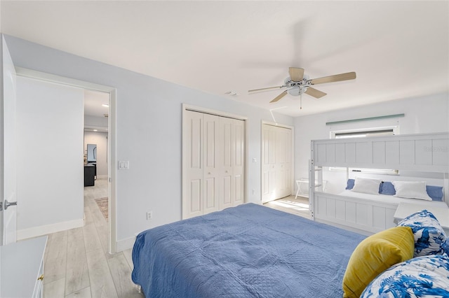
<svg viewBox="0 0 449 298">
<path fill-rule="evenodd" d="M 398 263 L 371 281 L 360 297 L 449 297 L 449 256 Z"/>
</svg>

